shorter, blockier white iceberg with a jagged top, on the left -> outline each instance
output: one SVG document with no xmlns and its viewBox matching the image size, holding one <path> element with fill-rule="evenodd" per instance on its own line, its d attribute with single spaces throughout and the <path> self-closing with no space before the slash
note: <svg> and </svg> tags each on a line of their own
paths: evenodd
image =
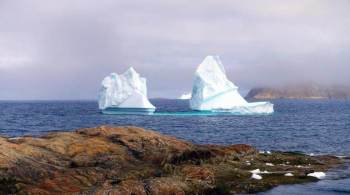
<svg viewBox="0 0 350 195">
<path fill-rule="evenodd" d="M 152 113 L 156 109 L 147 98 L 146 79 L 132 67 L 103 79 L 98 105 L 105 114 Z"/>
</svg>

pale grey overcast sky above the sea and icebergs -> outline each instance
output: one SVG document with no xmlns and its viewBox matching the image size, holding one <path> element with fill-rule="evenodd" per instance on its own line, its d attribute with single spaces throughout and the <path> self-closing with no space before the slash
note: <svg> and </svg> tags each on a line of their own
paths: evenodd
<svg viewBox="0 0 350 195">
<path fill-rule="evenodd" d="M 0 0 L 0 99 L 96 99 L 133 66 L 151 97 L 191 90 L 206 55 L 241 89 L 350 83 L 348 0 Z"/>
</svg>

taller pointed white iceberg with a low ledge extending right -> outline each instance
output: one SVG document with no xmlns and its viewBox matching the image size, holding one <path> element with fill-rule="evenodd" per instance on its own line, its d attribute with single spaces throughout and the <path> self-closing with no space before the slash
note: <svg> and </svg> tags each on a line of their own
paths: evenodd
<svg viewBox="0 0 350 195">
<path fill-rule="evenodd" d="M 248 103 L 238 92 L 238 87 L 227 79 L 218 56 L 207 56 L 195 73 L 192 110 L 230 112 L 234 114 L 273 113 L 269 102 Z"/>
</svg>

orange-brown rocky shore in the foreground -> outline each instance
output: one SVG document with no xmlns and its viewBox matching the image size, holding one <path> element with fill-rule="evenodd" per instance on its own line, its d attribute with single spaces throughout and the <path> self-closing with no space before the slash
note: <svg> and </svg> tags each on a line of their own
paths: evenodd
<svg viewBox="0 0 350 195">
<path fill-rule="evenodd" d="M 0 137 L 0 194 L 235 194 L 341 164 L 333 156 L 195 145 L 137 127 Z M 254 170 L 254 171 L 253 171 Z"/>
</svg>

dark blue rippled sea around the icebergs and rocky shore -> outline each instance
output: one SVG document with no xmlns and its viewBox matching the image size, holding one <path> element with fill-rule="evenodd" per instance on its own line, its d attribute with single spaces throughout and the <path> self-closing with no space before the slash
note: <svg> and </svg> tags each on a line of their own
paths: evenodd
<svg viewBox="0 0 350 195">
<path fill-rule="evenodd" d="M 186 100 L 153 99 L 157 112 L 190 112 Z M 350 156 L 350 101 L 276 100 L 259 116 L 103 115 L 95 101 L 0 101 L 0 134 L 41 135 L 99 125 L 136 125 L 200 144 L 246 143 L 260 150 Z M 350 168 L 325 180 L 262 194 L 350 194 Z"/>
</svg>

